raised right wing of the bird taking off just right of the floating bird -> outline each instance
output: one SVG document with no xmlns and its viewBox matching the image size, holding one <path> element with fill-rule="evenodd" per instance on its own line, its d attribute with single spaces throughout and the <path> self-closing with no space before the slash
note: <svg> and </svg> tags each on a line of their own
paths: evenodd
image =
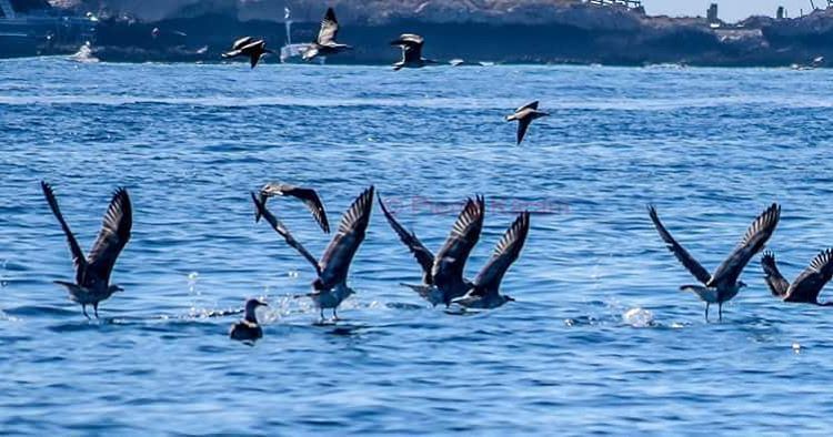
<svg viewBox="0 0 833 437">
<path fill-rule="evenodd" d="M 339 231 L 321 256 L 321 282 L 324 288 L 347 281 L 350 263 L 364 241 L 373 209 L 373 186 L 364 190 L 341 217 Z"/>
</svg>

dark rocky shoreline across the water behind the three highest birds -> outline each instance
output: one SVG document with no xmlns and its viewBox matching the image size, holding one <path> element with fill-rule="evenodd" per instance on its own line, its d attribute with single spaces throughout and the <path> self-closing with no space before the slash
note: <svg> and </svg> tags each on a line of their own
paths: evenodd
<svg viewBox="0 0 833 437">
<path fill-rule="evenodd" d="M 400 54 L 388 41 L 402 32 L 422 34 L 425 54 L 446 61 L 789 67 L 809 65 L 820 57 L 833 59 L 833 9 L 796 19 L 754 17 L 730 24 L 705 18 L 649 17 L 621 7 L 553 6 L 552 0 L 544 7 L 539 3 L 545 0 L 535 1 L 500 14 L 483 9 L 469 16 L 424 2 L 415 10 L 419 13 L 362 17 L 359 12 L 364 9 L 345 4 L 339 38 L 357 50 L 328 63 L 392 63 Z M 252 11 L 227 7 L 185 9 L 159 20 L 102 18 L 93 54 L 117 62 L 220 62 L 220 53 L 239 35 L 264 38 L 273 50 L 285 43 L 284 23 L 273 17 L 274 11 L 252 19 L 257 17 Z M 311 41 L 318 31 L 317 20 L 307 18 L 317 9 L 303 11 L 305 21 L 292 26 L 293 42 Z"/>
</svg>

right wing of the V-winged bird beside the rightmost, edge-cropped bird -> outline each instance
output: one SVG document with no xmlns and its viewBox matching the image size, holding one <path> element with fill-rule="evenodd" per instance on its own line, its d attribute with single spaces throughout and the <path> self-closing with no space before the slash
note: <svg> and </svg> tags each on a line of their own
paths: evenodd
<svg viewBox="0 0 833 437">
<path fill-rule="evenodd" d="M 763 251 L 772 233 L 775 232 L 779 220 L 781 220 L 781 206 L 773 203 L 752 222 L 743 240 L 726 261 L 714 271 L 712 278 L 705 285 L 710 287 L 719 284 L 734 285 L 750 260 Z"/>
</svg>

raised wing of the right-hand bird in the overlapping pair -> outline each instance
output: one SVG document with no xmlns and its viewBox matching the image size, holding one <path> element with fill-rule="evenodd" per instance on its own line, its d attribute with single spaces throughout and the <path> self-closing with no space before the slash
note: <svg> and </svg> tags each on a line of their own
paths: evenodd
<svg viewBox="0 0 833 437">
<path fill-rule="evenodd" d="M 474 277 L 474 294 L 496 294 L 503 275 L 521 254 L 526 235 L 530 232 L 530 213 L 524 211 L 506 230 L 494 248 L 492 257 Z"/>
</svg>

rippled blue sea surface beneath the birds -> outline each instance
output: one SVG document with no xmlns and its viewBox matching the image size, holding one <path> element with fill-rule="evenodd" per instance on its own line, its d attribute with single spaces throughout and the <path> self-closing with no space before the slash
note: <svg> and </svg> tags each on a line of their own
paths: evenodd
<svg viewBox="0 0 833 437">
<path fill-rule="evenodd" d="M 552 116 L 520 146 L 502 118 Z M 723 322 L 645 206 L 713 270 L 770 203 L 793 278 L 833 245 L 833 71 L 0 61 L 0 434 L 827 433 L 833 309 L 770 295 L 759 257 Z M 82 247 L 130 191 L 126 288 L 88 321 L 40 191 Z M 313 272 L 249 192 L 319 190 L 335 227 L 374 184 L 436 251 L 486 197 L 472 277 L 519 211 L 532 228 L 489 312 L 431 308 L 374 206 L 358 294 L 317 324 Z M 300 202 L 271 210 L 312 253 Z M 270 303 L 254 346 L 228 338 Z M 833 297 L 832 297 L 833 298 Z"/>
</svg>

